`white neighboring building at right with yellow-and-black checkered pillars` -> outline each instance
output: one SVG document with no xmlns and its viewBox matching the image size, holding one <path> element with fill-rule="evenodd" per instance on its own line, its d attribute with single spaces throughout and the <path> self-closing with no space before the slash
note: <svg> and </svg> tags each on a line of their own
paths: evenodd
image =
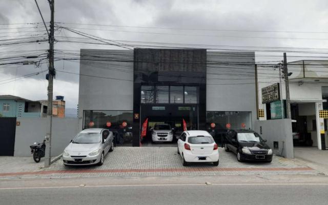
<svg viewBox="0 0 328 205">
<path fill-rule="evenodd" d="M 261 89 L 279 83 L 279 68 L 274 65 L 258 65 L 258 109 L 259 119 L 281 118 L 281 103 L 262 104 Z M 328 148 L 328 61 L 299 60 L 288 63 L 289 90 L 294 139 L 305 139 L 304 144 L 318 149 Z M 284 80 L 281 79 L 280 92 L 283 101 L 286 99 Z M 279 109 L 277 105 L 279 104 Z M 285 109 L 282 110 L 285 116 Z M 298 136 L 297 136 L 298 135 Z M 292 136 L 291 136 L 292 137 Z M 296 140 L 297 142 L 297 140 Z"/>
</svg>

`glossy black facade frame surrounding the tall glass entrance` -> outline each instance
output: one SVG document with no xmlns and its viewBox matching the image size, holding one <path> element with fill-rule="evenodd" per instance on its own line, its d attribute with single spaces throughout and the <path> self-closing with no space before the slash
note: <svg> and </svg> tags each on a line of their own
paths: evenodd
<svg viewBox="0 0 328 205">
<path fill-rule="evenodd" d="M 206 49 L 134 49 L 133 68 L 134 114 L 141 111 L 141 85 L 195 85 L 199 87 L 199 129 L 206 129 Z M 133 146 L 140 145 L 141 124 L 140 118 L 133 119 Z"/>
</svg>

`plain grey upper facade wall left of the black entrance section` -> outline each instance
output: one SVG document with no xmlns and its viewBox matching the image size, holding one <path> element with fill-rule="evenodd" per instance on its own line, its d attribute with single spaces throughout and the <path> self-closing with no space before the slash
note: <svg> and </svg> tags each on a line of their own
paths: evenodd
<svg viewBox="0 0 328 205">
<path fill-rule="evenodd" d="M 81 49 L 80 55 L 79 130 L 84 110 L 133 110 L 133 51 Z"/>
</svg>

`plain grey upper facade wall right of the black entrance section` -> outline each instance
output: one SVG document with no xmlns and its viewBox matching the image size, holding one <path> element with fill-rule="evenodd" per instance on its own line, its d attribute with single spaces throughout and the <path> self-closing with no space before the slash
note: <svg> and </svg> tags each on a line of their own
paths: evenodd
<svg viewBox="0 0 328 205">
<path fill-rule="evenodd" d="M 249 111 L 256 120 L 254 52 L 207 52 L 207 111 Z M 220 64 L 229 62 L 230 65 Z M 238 65 L 247 63 L 247 65 Z"/>
</svg>

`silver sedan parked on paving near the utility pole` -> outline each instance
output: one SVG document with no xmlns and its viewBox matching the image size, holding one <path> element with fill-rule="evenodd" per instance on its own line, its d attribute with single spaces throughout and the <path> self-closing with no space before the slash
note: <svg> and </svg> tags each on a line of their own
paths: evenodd
<svg viewBox="0 0 328 205">
<path fill-rule="evenodd" d="M 103 165 L 105 155 L 114 150 L 113 132 L 92 128 L 78 133 L 64 149 L 64 165 Z"/>
</svg>

